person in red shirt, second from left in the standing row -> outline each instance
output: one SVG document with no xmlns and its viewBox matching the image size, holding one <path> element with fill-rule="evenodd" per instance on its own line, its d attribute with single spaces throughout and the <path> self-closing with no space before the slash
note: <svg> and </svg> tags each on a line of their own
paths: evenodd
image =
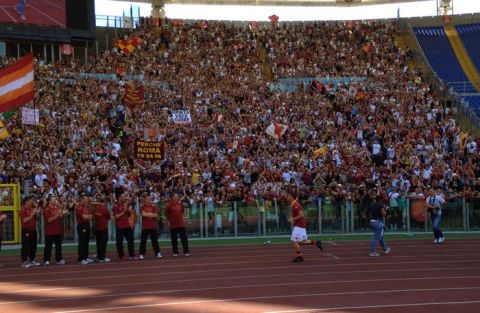
<svg viewBox="0 0 480 313">
<path fill-rule="evenodd" d="M 47 199 L 47 204 L 43 210 L 43 219 L 45 220 L 45 249 L 43 250 L 43 264 L 50 266 L 52 256 L 52 246 L 55 243 L 55 261 L 58 265 L 65 265 L 66 262 L 62 255 L 63 217 L 68 215 L 68 210 L 63 209 L 55 196 Z"/>
</svg>

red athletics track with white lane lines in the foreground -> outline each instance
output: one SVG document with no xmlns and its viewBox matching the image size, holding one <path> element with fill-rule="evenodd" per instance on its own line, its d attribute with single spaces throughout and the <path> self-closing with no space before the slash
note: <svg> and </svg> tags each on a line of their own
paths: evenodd
<svg viewBox="0 0 480 313">
<path fill-rule="evenodd" d="M 390 245 L 372 258 L 366 241 L 327 242 L 303 263 L 288 243 L 30 269 L 2 257 L 0 312 L 480 312 L 480 240 Z"/>
</svg>

